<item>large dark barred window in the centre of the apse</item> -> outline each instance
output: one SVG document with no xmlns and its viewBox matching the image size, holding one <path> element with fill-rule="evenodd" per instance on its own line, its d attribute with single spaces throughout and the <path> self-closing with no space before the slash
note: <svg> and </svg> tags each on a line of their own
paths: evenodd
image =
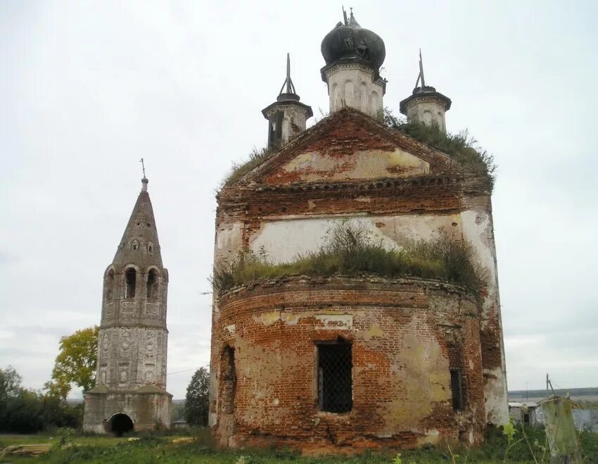
<svg viewBox="0 0 598 464">
<path fill-rule="evenodd" d="M 317 357 L 320 410 L 347 413 L 353 406 L 351 344 L 317 344 Z"/>
</svg>

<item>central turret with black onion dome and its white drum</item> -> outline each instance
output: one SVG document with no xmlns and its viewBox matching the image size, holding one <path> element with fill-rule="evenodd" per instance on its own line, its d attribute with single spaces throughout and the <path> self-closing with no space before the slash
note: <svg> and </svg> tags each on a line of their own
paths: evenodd
<svg viewBox="0 0 598 464">
<path fill-rule="evenodd" d="M 350 106 L 372 117 L 383 109 L 386 80 L 380 66 L 386 57 L 383 40 L 357 23 L 353 12 L 322 40 L 322 80 L 328 84 L 330 111 Z"/>
</svg>

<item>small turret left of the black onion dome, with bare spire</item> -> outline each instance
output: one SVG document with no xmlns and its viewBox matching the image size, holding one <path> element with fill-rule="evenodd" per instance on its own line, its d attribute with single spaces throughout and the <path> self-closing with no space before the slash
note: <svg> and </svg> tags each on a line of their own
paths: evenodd
<svg viewBox="0 0 598 464">
<path fill-rule="evenodd" d="M 268 120 L 268 148 L 279 149 L 305 130 L 314 113 L 312 107 L 300 103 L 291 80 L 291 57 L 286 54 L 286 79 L 276 101 L 262 110 Z"/>
</svg>

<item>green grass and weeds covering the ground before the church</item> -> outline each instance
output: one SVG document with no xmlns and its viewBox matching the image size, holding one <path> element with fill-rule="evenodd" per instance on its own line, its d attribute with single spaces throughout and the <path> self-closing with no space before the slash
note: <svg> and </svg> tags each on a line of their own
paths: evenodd
<svg viewBox="0 0 598 464">
<path fill-rule="evenodd" d="M 543 429 L 526 427 L 527 440 L 523 439 L 521 428 L 514 435 L 509 445 L 507 437 L 500 429 L 490 429 L 482 446 L 467 448 L 464 445 L 447 444 L 427 446 L 416 450 L 381 450 L 366 451 L 359 456 L 300 456 L 300 453 L 276 449 L 246 449 L 238 451 L 217 451 L 207 439 L 206 429 L 199 432 L 192 443 L 173 444 L 172 437 L 146 437 L 139 441 L 115 439 L 113 437 L 72 437 L 72 445 L 66 449 L 56 446 L 49 454 L 38 458 L 12 458 L 18 463 L 297 463 L 297 464 L 332 464 L 332 463 L 393 463 L 400 453 L 402 464 L 410 463 L 451 463 L 454 456 L 456 463 L 547 463 L 549 453 L 545 446 Z M 94 438 L 89 442 L 89 438 Z M 38 443 L 40 441 L 37 441 Z M 580 446 L 585 463 L 598 462 L 598 434 L 582 432 Z M 530 451 L 531 449 L 531 451 Z M 508 451 L 508 452 L 507 452 Z M 533 455 L 532 455 L 533 452 Z M 243 456 L 243 460 L 241 460 Z"/>
</svg>

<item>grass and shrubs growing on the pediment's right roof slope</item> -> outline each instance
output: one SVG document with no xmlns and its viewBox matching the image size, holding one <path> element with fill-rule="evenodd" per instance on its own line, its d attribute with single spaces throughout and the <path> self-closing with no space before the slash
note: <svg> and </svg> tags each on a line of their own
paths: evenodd
<svg viewBox="0 0 598 464">
<path fill-rule="evenodd" d="M 384 108 L 381 120 L 387 127 L 400 130 L 418 142 L 447 153 L 459 163 L 485 173 L 490 180 L 490 187 L 494 187 L 497 169 L 494 155 L 478 146 L 478 141 L 469 135 L 468 130 L 451 134 L 440 129 L 436 123 L 427 125 L 417 120 L 397 118 L 390 108 Z"/>
</svg>

